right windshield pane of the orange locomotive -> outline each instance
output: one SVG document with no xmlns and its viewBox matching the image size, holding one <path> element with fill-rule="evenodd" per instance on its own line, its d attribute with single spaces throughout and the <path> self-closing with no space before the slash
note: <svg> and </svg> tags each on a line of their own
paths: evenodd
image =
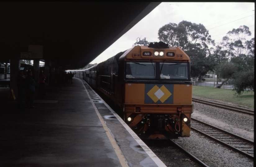
<svg viewBox="0 0 256 167">
<path fill-rule="evenodd" d="M 188 63 L 160 63 L 160 79 L 188 79 Z"/>
</svg>

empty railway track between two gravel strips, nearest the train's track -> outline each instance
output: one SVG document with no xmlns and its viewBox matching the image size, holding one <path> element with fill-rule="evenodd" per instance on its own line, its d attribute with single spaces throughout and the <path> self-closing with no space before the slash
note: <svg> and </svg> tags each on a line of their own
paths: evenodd
<svg viewBox="0 0 256 167">
<path fill-rule="evenodd" d="M 254 159 L 254 142 L 208 123 L 191 118 L 191 130 L 199 132 L 214 141 Z"/>
</svg>

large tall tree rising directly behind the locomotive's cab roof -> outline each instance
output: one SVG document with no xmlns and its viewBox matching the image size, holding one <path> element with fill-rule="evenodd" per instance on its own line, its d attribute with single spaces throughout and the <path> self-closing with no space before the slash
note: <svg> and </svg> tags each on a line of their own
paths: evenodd
<svg viewBox="0 0 256 167">
<path fill-rule="evenodd" d="M 203 24 L 184 20 L 179 24 L 169 23 L 158 30 L 158 39 L 169 46 L 180 47 L 189 55 L 192 77 L 200 78 L 207 73 L 205 60 L 209 54 L 208 44 L 215 44 Z"/>
</svg>

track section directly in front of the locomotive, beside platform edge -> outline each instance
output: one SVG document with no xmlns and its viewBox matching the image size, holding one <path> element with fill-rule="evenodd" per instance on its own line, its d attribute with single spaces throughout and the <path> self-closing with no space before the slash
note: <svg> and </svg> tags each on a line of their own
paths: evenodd
<svg viewBox="0 0 256 167">
<path fill-rule="evenodd" d="M 166 166 L 209 167 L 173 140 L 144 140 Z"/>
</svg>

